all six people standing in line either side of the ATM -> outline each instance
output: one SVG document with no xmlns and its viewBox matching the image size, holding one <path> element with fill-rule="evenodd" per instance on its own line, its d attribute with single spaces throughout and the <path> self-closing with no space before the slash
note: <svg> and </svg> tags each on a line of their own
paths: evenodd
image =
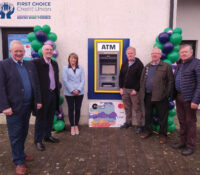
<svg viewBox="0 0 200 175">
<path fill-rule="evenodd" d="M 25 154 L 30 114 L 36 116 L 34 143 L 44 151 L 45 142 L 58 143 L 51 135 L 54 114 L 59 110 L 60 83 L 58 64 L 51 60 L 52 45 L 43 45 L 43 57 L 24 61 L 24 46 L 14 40 L 10 44 L 11 58 L 0 61 L 0 112 L 6 115 L 16 174 L 26 174 L 25 161 L 33 157 Z M 128 47 L 128 60 L 122 64 L 119 75 L 120 94 L 125 107 L 126 122 L 121 128 L 132 126 L 132 106 L 136 112 L 136 133 L 145 139 L 152 135 L 153 108 L 159 117 L 159 142 L 166 143 L 168 100 L 176 100 L 180 123 L 180 141 L 173 148 L 184 148 L 183 155 L 194 152 L 196 140 L 196 112 L 200 102 L 200 61 L 194 58 L 190 45 L 180 48 L 180 60 L 175 74 L 169 64 L 161 60 L 162 51 L 154 48 L 151 62 L 145 67 L 136 58 L 136 49 Z M 68 66 L 63 68 L 64 95 L 68 104 L 71 135 L 79 134 L 81 104 L 84 96 L 84 70 L 78 64 L 78 55 L 71 53 Z M 143 112 L 145 125 L 143 131 Z"/>
</svg>

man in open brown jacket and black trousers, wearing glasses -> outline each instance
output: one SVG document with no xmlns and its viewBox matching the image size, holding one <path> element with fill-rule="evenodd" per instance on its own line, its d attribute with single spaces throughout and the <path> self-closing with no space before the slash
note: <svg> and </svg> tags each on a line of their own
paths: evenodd
<svg viewBox="0 0 200 175">
<path fill-rule="evenodd" d="M 141 138 L 152 134 L 153 107 L 156 108 L 160 124 L 160 143 L 166 143 L 168 124 L 168 98 L 172 95 L 174 77 L 171 66 L 160 60 L 162 51 L 154 48 L 152 61 L 147 64 L 140 80 L 140 95 L 145 104 L 145 132 Z"/>
</svg>

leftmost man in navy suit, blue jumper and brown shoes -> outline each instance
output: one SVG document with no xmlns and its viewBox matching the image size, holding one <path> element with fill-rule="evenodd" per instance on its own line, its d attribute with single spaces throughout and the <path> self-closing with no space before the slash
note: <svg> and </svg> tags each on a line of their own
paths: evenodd
<svg viewBox="0 0 200 175">
<path fill-rule="evenodd" d="M 40 87 L 35 65 L 22 60 L 22 43 L 12 41 L 9 52 L 12 58 L 0 62 L 0 112 L 6 115 L 16 174 L 26 174 L 24 162 L 33 158 L 24 153 L 24 144 L 31 111 L 42 106 Z"/>
</svg>

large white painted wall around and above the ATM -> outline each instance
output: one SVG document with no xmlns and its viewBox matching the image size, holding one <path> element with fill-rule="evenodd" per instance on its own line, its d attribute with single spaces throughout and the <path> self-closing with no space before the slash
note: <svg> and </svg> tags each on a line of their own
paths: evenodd
<svg viewBox="0 0 200 175">
<path fill-rule="evenodd" d="M 7 0 L 13 4 L 16 0 Z M 32 0 L 29 0 L 32 2 Z M 35 0 L 38 1 L 38 0 Z M 46 0 L 45 0 L 46 1 Z M 81 123 L 88 122 L 87 69 L 88 38 L 130 38 L 137 56 L 144 64 L 150 61 L 155 38 L 169 25 L 170 0 L 49 0 L 51 20 L 0 20 L 0 27 L 33 27 L 48 24 L 58 35 L 60 77 L 69 53 L 76 52 L 85 68 L 85 97 Z M 39 2 L 39 1 L 38 1 Z M 30 12 L 27 12 L 30 14 Z M 61 92 L 63 93 L 63 92 Z M 64 103 L 67 114 L 67 105 Z"/>
</svg>

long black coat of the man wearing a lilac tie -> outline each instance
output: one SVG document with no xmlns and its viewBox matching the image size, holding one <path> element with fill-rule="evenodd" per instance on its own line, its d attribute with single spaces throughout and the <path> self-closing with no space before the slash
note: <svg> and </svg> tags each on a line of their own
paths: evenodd
<svg viewBox="0 0 200 175">
<path fill-rule="evenodd" d="M 33 60 L 35 67 L 38 72 L 38 79 L 40 84 L 40 92 L 42 98 L 42 108 L 38 111 L 37 116 L 43 116 L 47 109 L 47 92 L 49 90 L 50 79 L 49 79 L 49 65 L 45 62 L 44 58 L 39 58 Z M 56 110 L 59 109 L 59 98 L 60 98 L 60 90 L 59 90 L 59 73 L 58 73 L 58 64 L 51 60 L 51 64 L 54 70 L 55 77 L 55 85 L 56 85 Z"/>
</svg>

